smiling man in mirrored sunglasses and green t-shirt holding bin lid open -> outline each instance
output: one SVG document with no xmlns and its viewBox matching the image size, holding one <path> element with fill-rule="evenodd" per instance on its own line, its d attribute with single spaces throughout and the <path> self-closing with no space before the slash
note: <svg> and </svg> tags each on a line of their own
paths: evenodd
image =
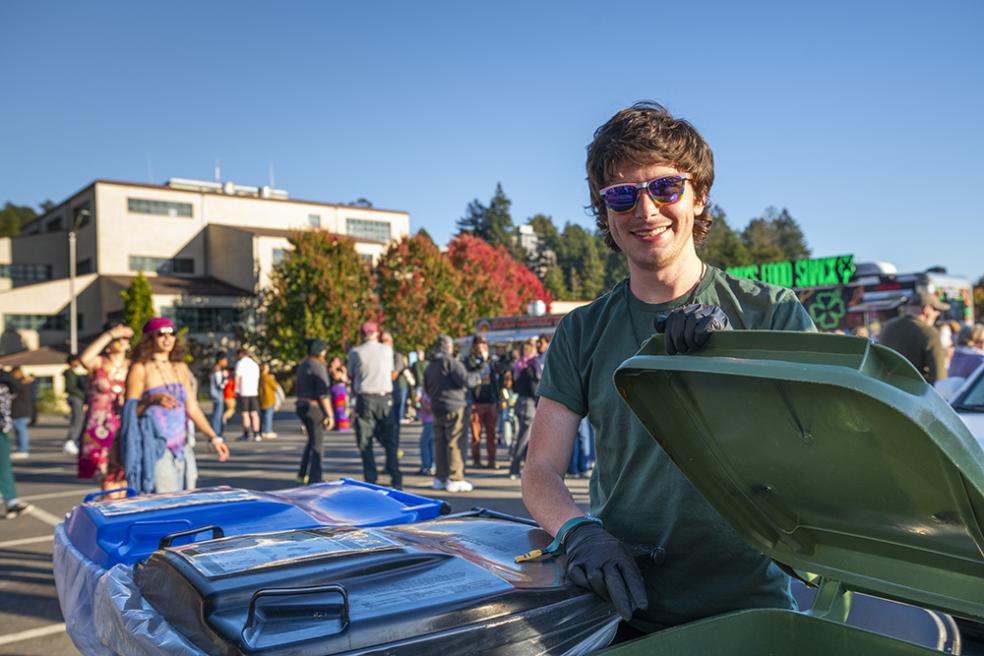
<svg viewBox="0 0 984 656">
<path fill-rule="evenodd" d="M 523 500 L 558 538 L 568 576 L 610 599 L 632 620 L 630 635 L 741 608 L 792 607 L 786 575 L 676 468 L 618 396 L 612 374 L 654 328 L 674 354 L 700 348 L 714 330 L 814 330 L 813 323 L 792 291 L 739 280 L 698 257 L 711 228 L 714 160 L 690 123 L 655 103 L 621 110 L 595 132 L 587 171 L 598 228 L 624 253 L 629 277 L 557 327 Z M 596 433 L 591 515 L 564 485 L 584 416 Z M 640 571 L 637 547 L 665 557 Z"/>
</svg>

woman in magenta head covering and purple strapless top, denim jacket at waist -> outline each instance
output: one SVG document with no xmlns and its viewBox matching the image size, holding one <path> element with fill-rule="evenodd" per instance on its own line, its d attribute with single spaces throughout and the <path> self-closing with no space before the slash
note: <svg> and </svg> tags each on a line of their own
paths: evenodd
<svg viewBox="0 0 984 656">
<path fill-rule="evenodd" d="M 141 418 L 138 431 L 141 438 L 139 445 L 131 444 L 127 435 L 125 464 L 127 475 L 131 468 L 137 469 L 140 480 L 128 479 L 128 482 L 131 487 L 138 485 L 143 490 L 152 481 L 154 492 L 187 490 L 196 486 L 198 477 L 194 449 L 188 441 L 188 419 L 208 438 L 220 462 L 229 458 L 229 447 L 215 434 L 198 407 L 192 393 L 191 371 L 184 359 L 184 345 L 178 339 L 174 323 L 165 317 L 154 317 L 144 324 L 142 332 L 126 379 L 127 402 L 136 402 L 136 415 Z M 143 421 L 145 418 L 149 418 L 150 426 Z M 142 462 L 132 463 L 133 452 L 145 454 L 147 448 L 160 452 L 152 472 L 143 471 Z"/>
</svg>

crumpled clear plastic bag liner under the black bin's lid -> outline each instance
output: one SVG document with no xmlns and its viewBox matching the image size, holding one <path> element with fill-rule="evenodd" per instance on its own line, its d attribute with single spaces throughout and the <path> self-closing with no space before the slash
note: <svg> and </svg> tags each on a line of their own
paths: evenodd
<svg viewBox="0 0 984 656">
<path fill-rule="evenodd" d="M 93 620 L 103 653 L 123 656 L 207 656 L 185 640 L 140 594 L 133 569 L 114 565 L 96 586 Z"/>
</svg>

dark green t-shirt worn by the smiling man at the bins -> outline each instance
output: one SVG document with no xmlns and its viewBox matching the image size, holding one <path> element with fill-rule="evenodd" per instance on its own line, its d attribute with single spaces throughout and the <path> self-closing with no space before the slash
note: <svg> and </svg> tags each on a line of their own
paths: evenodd
<svg viewBox="0 0 984 656">
<path fill-rule="evenodd" d="M 560 322 L 540 384 L 541 396 L 587 415 L 594 426 L 591 513 L 625 542 L 666 550 L 665 562 L 645 574 L 649 609 L 633 622 L 646 631 L 742 608 L 793 607 L 788 577 L 677 469 L 618 395 L 612 374 L 653 333 L 658 314 L 688 301 L 719 306 L 735 329 L 815 328 L 791 290 L 715 267 L 690 296 L 644 303 L 623 280 Z"/>
</svg>

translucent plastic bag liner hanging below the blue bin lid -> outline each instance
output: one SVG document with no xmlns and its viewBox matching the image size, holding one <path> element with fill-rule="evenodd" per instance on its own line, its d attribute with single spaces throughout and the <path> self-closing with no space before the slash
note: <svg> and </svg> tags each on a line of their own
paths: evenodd
<svg viewBox="0 0 984 656">
<path fill-rule="evenodd" d="M 58 604 L 65 618 L 65 630 L 83 656 L 114 656 L 96 637 L 92 618 L 92 598 L 96 583 L 106 570 L 82 555 L 65 534 L 65 524 L 55 527 L 52 549 Z"/>
</svg>

